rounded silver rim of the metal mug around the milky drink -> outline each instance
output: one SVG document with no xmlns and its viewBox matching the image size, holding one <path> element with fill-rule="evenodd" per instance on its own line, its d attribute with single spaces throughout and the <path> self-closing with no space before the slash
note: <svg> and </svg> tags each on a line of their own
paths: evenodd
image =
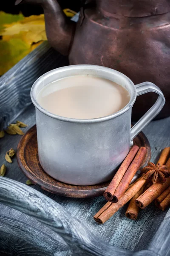
<svg viewBox="0 0 170 256">
<path fill-rule="evenodd" d="M 43 82 L 43 80 L 47 79 L 49 76 L 55 75 L 55 74 L 60 73 L 60 72 L 68 71 L 68 70 L 98 70 L 98 71 L 101 71 L 101 72 L 102 71 L 107 71 L 108 73 L 111 74 L 111 76 L 114 76 L 116 74 L 117 76 L 123 77 L 127 81 L 127 83 L 131 87 L 133 87 L 133 93 L 130 96 L 130 101 L 127 103 L 127 105 L 125 105 L 124 108 L 122 108 L 121 110 L 119 110 L 119 111 L 117 111 L 117 112 L 115 112 L 115 113 L 113 113 L 109 116 L 102 116 L 102 117 L 93 118 L 93 119 L 69 118 L 69 117 L 59 116 L 59 115 L 56 115 L 56 114 L 53 114 L 53 113 L 47 111 L 45 108 L 42 108 L 42 106 L 37 102 L 37 96 L 35 95 L 37 88 L 40 86 L 40 84 Z M 123 113 L 125 113 L 129 108 L 132 108 L 134 102 L 136 101 L 136 87 L 133 84 L 133 82 L 127 76 L 125 76 L 123 73 L 121 73 L 117 70 L 113 70 L 109 67 L 103 67 L 103 66 L 98 66 L 98 65 L 78 64 L 78 65 L 69 65 L 69 66 L 64 66 L 64 67 L 58 67 L 54 70 L 50 70 L 47 73 L 43 74 L 32 85 L 30 96 L 31 96 L 31 101 L 34 104 L 34 106 L 40 112 L 44 113 L 46 116 L 49 116 L 53 119 L 57 119 L 57 120 L 65 121 L 65 122 L 74 122 L 74 123 L 95 123 L 95 122 L 107 121 L 107 120 L 110 120 L 112 118 L 115 118 L 116 116 L 120 116 Z"/>
</svg>

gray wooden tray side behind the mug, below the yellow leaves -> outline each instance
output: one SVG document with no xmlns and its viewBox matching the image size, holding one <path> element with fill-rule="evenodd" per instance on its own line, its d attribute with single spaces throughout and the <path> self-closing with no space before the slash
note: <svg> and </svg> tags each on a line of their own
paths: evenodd
<svg viewBox="0 0 170 256">
<path fill-rule="evenodd" d="M 0 77 L 0 130 L 5 128 L 31 104 L 34 81 L 56 67 L 68 64 L 68 58 L 52 49 L 48 42 L 30 52 Z"/>
</svg>

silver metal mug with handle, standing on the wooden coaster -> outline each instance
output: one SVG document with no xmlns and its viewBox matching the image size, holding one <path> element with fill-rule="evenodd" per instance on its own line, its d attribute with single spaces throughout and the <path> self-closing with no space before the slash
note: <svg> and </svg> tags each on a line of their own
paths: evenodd
<svg viewBox="0 0 170 256">
<path fill-rule="evenodd" d="M 130 94 L 129 103 L 110 116 L 72 119 L 46 111 L 37 102 L 42 87 L 67 76 L 92 75 L 120 84 Z M 136 96 L 157 93 L 158 99 L 147 113 L 131 126 Z M 137 84 L 122 73 L 96 65 L 72 65 L 51 70 L 34 82 L 31 100 L 36 107 L 38 154 L 42 168 L 55 179 L 74 185 L 94 185 L 110 180 L 129 152 L 133 138 L 163 108 L 163 93 L 155 84 Z M 142 108 L 142 106 L 141 106 Z"/>
</svg>

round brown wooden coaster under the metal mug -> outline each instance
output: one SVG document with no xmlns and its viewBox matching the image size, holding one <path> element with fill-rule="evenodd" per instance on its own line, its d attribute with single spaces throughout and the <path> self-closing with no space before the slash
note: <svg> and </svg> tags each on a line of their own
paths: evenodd
<svg viewBox="0 0 170 256">
<path fill-rule="evenodd" d="M 151 150 L 147 137 L 141 132 L 135 137 L 133 144 L 147 148 L 147 154 L 142 165 L 148 163 L 151 156 Z M 36 125 L 29 129 L 21 138 L 17 148 L 17 161 L 20 169 L 32 183 L 48 192 L 66 197 L 90 198 L 101 196 L 110 183 L 105 182 L 94 186 L 74 186 L 62 183 L 50 177 L 44 172 L 38 159 Z"/>
</svg>

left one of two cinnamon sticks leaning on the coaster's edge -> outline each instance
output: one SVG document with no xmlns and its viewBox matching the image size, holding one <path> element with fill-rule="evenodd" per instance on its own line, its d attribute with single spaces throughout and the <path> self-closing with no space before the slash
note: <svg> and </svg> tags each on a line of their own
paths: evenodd
<svg viewBox="0 0 170 256">
<path fill-rule="evenodd" d="M 139 147 L 137 145 L 134 145 L 130 152 L 127 154 L 127 157 L 119 167 L 118 171 L 114 175 L 111 183 L 109 184 L 108 188 L 104 192 L 104 197 L 108 201 L 112 201 L 113 194 L 119 185 L 120 181 L 122 180 L 123 175 L 127 171 L 127 168 L 130 166 L 130 163 L 133 161 L 133 158 L 135 157 L 137 151 L 139 150 Z"/>
</svg>

